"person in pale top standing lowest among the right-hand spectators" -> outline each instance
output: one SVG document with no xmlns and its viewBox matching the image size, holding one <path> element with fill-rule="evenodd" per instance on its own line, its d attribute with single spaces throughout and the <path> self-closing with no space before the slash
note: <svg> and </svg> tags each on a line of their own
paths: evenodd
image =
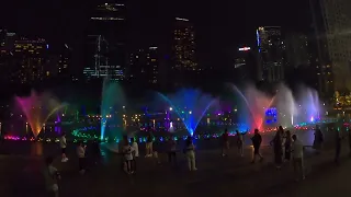
<svg viewBox="0 0 351 197">
<path fill-rule="evenodd" d="M 293 135 L 293 164 L 294 164 L 294 173 L 295 181 L 305 179 L 305 170 L 304 170 L 304 146 L 302 141 L 297 139 L 296 135 Z"/>
</svg>

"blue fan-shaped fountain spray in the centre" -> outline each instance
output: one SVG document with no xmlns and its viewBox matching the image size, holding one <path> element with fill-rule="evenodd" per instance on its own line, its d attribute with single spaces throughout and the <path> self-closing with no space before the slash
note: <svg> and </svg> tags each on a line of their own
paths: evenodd
<svg viewBox="0 0 351 197">
<path fill-rule="evenodd" d="M 169 105 L 168 113 L 174 112 L 191 136 L 195 132 L 206 111 L 216 101 L 212 96 L 193 89 L 183 89 L 169 96 L 161 93 L 159 95 Z"/>
</svg>

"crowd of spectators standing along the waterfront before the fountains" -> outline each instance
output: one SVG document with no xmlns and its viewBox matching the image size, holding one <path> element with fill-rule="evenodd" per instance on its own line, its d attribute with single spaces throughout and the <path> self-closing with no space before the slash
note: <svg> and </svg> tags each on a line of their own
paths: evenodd
<svg viewBox="0 0 351 197">
<path fill-rule="evenodd" d="M 341 152 L 341 141 L 346 138 L 339 129 L 333 129 L 333 127 L 328 127 L 328 129 L 335 132 L 335 150 L 336 157 L 335 161 L 338 163 Z M 245 149 L 245 136 L 248 131 L 239 132 L 236 130 L 235 135 L 235 143 L 238 150 L 238 155 L 244 157 Z M 349 144 L 351 150 L 351 132 L 348 132 Z M 229 134 L 228 130 L 225 129 L 224 134 L 220 138 L 222 141 L 222 155 L 227 157 L 229 154 L 230 142 L 229 142 Z M 252 152 L 252 161 L 251 163 L 256 163 L 257 159 L 260 162 L 264 160 L 261 154 L 262 147 L 262 137 L 258 129 L 254 129 L 254 134 L 251 137 L 251 142 L 253 147 Z M 316 126 L 315 129 L 315 139 L 313 148 L 316 150 L 317 154 L 320 154 L 324 148 L 325 137 L 319 126 Z M 146 154 L 145 158 L 154 159 L 157 163 L 160 163 L 158 158 L 158 152 L 154 150 L 154 137 L 151 132 L 147 137 L 146 141 Z M 63 134 L 59 140 L 59 146 L 61 149 L 61 162 L 68 162 L 68 158 L 66 155 L 66 135 Z M 282 126 L 278 127 L 276 132 L 273 139 L 270 142 L 270 146 L 273 149 L 273 161 L 278 170 L 283 166 L 284 162 L 290 162 L 294 166 L 295 178 L 296 181 L 305 179 L 304 172 L 304 149 L 305 146 L 298 139 L 296 135 L 292 135 L 290 130 L 284 130 Z M 86 162 L 86 149 L 87 146 L 83 142 L 80 142 L 77 147 L 77 158 L 79 163 L 79 173 L 84 174 L 87 170 Z M 100 147 L 98 141 L 92 144 L 93 158 L 95 158 L 95 162 L 100 159 Z M 178 143 L 173 137 L 170 137 L 167 141 L 167 155 L 168 161 L 171 165 L 177 165 L 177 154 L 180 152 L 178 149 Z M 184 147 L 182 149 L 183 154 L 186 158 L 186 164 L 189 171 L 196 171 L 196 158 L 195 158 L 195 146 L 193 143 L 193 139 L 189 136 L 184 142 Z M 126 136 L 123 137 L 122 148 L 120 154 L 123 157 L 123 170 L 127 174 L 134 174 L 136 172 L 136 166 L 139 158 L 139 147 L 137 141 L 134 138 L 128 139 Z M 350 151 L 351 157 L 351 151 Z M 49 192 L 54 193 L 55 196 L 58 196 L 58 185 L 57 181 L 60 178 L 60 175 L 53 166 L 53 158 L 46 159 L 46 167 L 44 170 L 44 176 L 46 178 L 47 188 Z"/>
</svg>

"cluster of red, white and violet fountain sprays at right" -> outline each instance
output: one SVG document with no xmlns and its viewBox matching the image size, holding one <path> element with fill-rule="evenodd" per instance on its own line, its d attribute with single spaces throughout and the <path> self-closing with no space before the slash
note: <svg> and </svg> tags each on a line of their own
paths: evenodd
<svg viewBox="0 0 351 197">
<path fill-rule="evenodd" d="M 284 84 L 278 85 L 274 96 L 262 93 L 253 85 L 248 85 L 244 92 L 233 84 L 230 86 L 242 99 L 250 112 L 246 121 L 249 121 L 251 129 L 254 127 L 262 130 L 269 125 L 293 127 L 301 123 L 315 123 L 320 118 L 318 93 L 313 89 L 301 86 L 299 94 L 295 99 L 292 90 Z M 274 116 L 273 120 L 270 116 Z"/>
</svg>

